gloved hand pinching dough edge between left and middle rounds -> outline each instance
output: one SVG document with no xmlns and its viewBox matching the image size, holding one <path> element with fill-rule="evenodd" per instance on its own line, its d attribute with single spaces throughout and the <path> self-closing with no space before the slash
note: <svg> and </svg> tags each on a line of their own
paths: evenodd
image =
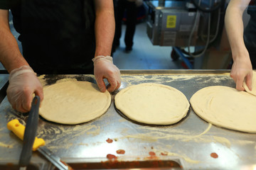
<svg viewBox="0 0 256 170">
<path fill-rule="evenodd" d="M 112 57 L 100 55 L 92 59 L 92 62 L 94 62 L 95 79 L 100 91 L 106 91 L 103 79 L 107 79 L 110 83 L 107 88 L 108 91 L 117 90 L 121 85 L 121 77 L 119 69 L 113 64 Z"/>
</svg>

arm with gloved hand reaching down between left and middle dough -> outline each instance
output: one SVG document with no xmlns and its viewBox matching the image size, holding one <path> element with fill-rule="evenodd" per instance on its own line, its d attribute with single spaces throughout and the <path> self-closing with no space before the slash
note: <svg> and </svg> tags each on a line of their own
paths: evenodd
<svg viewBox="0 0 256 170">
<path fill-rule="evenodd" d="M 106 91 L 103 79 L 110 83 L 107 90 L 112 92 L 121 85 L 119 69 L 113 64 L 111 55 L 114 39 L 114 6 L 112 0 L 95 0 L 95 39 L 96 50 L 94 74 L 100 91 Z"/>
</svg>

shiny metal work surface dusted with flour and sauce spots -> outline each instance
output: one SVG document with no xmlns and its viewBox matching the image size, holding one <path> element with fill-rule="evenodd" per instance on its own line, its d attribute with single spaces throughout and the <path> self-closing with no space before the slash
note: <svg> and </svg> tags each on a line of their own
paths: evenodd
<svg viewBox="0 0 256 170">
<path fill-rule="evenodd" d="M 55 84 L 59 79 L 95 82 L 92 75 L 42 75 L 39 78 L 44 86 Z M 188 101 L 196 91 L 206 86 L 235 87 L 228 71 L 123 70 L 119 90 L 142 83 L 172 86 L 183 92 Z M 40 118 L 37 136 L 46 140 L 46 147 L 70 165 L 103 164 L 101 162 L 107 161 L 107 154 L 113 154 L 118 162 L 171 160 L 183 169 L 255 168 L 256 134 L 210 125 L 191 108 L 186 118 L 175 125 L 140 125 L 115 110 L 114 95 L 118 91 L 112 94 L 111 106 L 100 118 L 80 125 L 60 125 Z M 21 152 L 22 142 L 6 128 L 6 123 L 14 118 L 25 123 L 27 115 L 14 111 L 5 98 L 0 106 L 1 164 L 16 164 Z M 113 142 L 107 142 L 108 139 Z M 118 149 L 124 149 L 125 154 L 117 154 Z M 152 153 L 156 155 L 152 156 Z M 46 159 L 37 152 L 31 162 L 44 167 L 40 169 L 48 167 Z"/>
</svg>

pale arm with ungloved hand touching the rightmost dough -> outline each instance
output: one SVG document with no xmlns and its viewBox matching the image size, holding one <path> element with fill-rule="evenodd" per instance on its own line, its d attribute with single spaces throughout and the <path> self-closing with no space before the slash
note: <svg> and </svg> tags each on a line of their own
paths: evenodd
<svg viewBox="0 0 256 170">
<path fill-rule="evenodd" d="M 230 72 L 236 83 L 236 89 L 244 91 L 242 83 L 246 79 L 249 89 L 252 89 L 252 64 L 249 52 L 243 39 L 242 14 L 250 0 L 230 0 L 225 13 L 225 28 L 233 55 L 233 66 Z"/>
</svg>

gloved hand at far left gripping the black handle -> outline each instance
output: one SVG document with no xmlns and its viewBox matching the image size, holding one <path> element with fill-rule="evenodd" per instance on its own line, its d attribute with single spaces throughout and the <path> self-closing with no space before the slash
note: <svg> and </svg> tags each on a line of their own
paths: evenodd
<svg viewBox="0 0 256 170">
<path fill-rule="evenodd" d="M 7 88 L 7 98 L 11 106 L 22 113 L 30 111 L 33 94 L 39 96 L 43 101 L 43 86 L 33 69 L 24 65 L 12 70 Z"/>
</svg>

